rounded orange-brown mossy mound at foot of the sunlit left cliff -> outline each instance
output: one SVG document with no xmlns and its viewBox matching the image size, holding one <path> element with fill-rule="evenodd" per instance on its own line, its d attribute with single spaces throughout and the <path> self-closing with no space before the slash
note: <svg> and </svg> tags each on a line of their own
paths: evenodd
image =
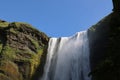
<svg viewBox="0 0 120 80">
<path fill-rule="evenodd" d="M 22 80 L 22 76 L 19 73 L 16 64 L 9 60 L 1 60 L 0 63 L 0 71 L 3 73 L 3 76 L 7 76 L 12 80 Z"/>
</svg>

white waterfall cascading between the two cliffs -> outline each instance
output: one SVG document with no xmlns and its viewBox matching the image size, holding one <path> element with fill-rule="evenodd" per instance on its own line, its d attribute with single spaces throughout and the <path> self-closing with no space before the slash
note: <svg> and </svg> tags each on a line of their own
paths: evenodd
<svg viewBox="0 0 120 80">
<path fill-rule="evenodd" d="M 72 37 L 50 39 L 44 74 L 40 80 L 91 80 L 89 72 L 87 31 Z"/>
</svg>

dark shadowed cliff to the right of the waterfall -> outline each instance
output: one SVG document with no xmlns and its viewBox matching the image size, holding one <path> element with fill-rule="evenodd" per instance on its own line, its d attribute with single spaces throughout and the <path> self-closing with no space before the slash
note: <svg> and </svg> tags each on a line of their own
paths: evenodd
<svg viewBox="0 0 120 80">
<path fill-rule="evenodd" d="M 92 80 L 120 80 L 120 13 L 102 19 L 88 35 Z"/>
</svg>

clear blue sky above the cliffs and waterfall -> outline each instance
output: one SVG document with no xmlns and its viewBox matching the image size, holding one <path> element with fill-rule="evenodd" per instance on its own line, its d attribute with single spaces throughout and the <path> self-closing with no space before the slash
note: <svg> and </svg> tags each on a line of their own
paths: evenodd
<svg viewBox="0 0 120 80">
<path fill-rule="evenodd" d="M 27 22 L 50 37 L 86 30 L 112 12 L 112 0 L 2 0 L 0 19 Z"/>
</svg>

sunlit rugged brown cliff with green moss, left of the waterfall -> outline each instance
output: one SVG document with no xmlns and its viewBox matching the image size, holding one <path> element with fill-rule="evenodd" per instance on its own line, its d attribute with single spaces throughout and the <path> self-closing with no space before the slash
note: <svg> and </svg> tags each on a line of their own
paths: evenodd
<svg viewBox="0 0 120 80">
<path fill-rule="evenodd" d="M 47 44 L 47 35 L 31 25 L 0 20 L 0 80 L 37 80 Z"/>
</svg>

